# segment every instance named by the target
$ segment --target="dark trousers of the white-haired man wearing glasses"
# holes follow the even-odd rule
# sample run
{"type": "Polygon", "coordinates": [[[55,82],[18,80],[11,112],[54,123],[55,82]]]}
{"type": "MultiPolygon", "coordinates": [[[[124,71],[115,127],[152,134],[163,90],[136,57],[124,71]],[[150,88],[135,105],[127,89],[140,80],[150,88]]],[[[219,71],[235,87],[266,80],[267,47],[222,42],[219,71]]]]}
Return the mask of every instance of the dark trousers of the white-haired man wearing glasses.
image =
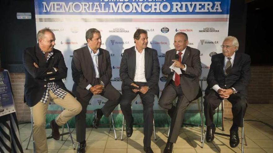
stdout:
{"type": "MultiPolygon", "coordinates": [[[[204,114],[206,117],[205,124],[207,126],[212,125],[215,109],[220,105],[222,100],[223,99],[219,94],[213,89],[206,92],[206,95],[204,96],[204,114]]],[[[244,114],[247,108],[247,98],[240,93],[235,93],[231,94],[227,100],[232,104],[233,125],[242,127],[244,114]]]]}

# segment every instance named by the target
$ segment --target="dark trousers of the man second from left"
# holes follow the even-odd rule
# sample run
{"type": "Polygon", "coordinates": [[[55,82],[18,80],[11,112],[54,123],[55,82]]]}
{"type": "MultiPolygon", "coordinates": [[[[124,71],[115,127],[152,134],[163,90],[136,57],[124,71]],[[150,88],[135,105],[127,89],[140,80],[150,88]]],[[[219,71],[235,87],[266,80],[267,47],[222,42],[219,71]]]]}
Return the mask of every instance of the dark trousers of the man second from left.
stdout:
{"type": "MultiPolygon", "coordinates": [[[[109,117],[111,112],[119,104],[121,94],[111,84],[108,84],[100,95],[108,99],[105,105],[101,108],[101,111],[105,117],[109,117]]],[[[75,116],[77,142],[83,142],[85,140],[86,111],[92,96],[93,94],[90,93],[85,97],[77,98],[77,100],[82,104],[83,107],[82,111],[75,116]]]]}

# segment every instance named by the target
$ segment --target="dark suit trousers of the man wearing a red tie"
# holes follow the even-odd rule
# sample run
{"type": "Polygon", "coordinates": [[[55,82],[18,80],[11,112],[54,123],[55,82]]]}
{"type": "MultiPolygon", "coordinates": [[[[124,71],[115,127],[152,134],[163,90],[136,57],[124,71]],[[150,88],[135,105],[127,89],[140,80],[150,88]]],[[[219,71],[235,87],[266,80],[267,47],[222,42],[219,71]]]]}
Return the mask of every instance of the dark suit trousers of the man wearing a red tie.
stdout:
{"type": "Polygon", "coordinates": [[[173,100],[178,97],[175,110],[172,114],[172,121],[170,127],[170,134],[168,137],[168,142],[176,143],[179,131],[183,124],[184,112],[190,101],[187,100],[183,94],[182,88],[179,85],[175,86],[174,81],[171,81],[170,84],[165,87],[162,91],[161,97],[159,99],[159,106],[165,110],[169,110],[173,106],[173,100]]]}

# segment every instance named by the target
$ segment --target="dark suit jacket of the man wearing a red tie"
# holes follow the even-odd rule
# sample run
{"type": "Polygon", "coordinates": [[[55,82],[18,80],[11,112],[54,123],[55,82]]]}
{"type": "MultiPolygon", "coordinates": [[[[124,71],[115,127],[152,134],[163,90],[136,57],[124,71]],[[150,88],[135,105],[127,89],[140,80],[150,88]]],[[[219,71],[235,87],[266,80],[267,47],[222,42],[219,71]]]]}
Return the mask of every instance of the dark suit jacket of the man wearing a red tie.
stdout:
{"type": "MultiPolygon", "coordinates": [[[[175,59],[175,55],[176,49],[171,49],[165,54],[165,62],[162,66],[162,73],[168,75],[165,87],[168,86],[174,74],[169,67],[173,64],[172,60],[175,59]]],[[[186,71],[181,69],[180,85],[186,98],[192,101],[202,96],[199,85],[199,77],[202,73],[200,51],[187,46],[181,63],[186,64],[187,68],[186,71]]]]}

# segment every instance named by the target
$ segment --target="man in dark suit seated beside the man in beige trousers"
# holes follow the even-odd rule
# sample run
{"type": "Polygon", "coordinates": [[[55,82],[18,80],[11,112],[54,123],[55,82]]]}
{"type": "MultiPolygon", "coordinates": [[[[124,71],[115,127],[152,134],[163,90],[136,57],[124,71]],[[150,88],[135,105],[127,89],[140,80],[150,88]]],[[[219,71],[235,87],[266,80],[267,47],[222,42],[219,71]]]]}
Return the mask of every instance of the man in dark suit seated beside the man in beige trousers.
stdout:
{"type": "Polygon", "coordinates": [[[110,54],[101,47],[101,33],[95,28],[87,30],[87,45],[74,50],[72,58],[72,92],[82,104],[83,110],[76,117],[76,134],[79,142],[77,152],[85,152],[85,125],[87,105],[93,95],[101,95],[108,99],[101,109],[94,110],[93,126],[97,128],[103,115],[109,117],[119,104],[121,94],[110,82],[112,67],[110,54]]]}

